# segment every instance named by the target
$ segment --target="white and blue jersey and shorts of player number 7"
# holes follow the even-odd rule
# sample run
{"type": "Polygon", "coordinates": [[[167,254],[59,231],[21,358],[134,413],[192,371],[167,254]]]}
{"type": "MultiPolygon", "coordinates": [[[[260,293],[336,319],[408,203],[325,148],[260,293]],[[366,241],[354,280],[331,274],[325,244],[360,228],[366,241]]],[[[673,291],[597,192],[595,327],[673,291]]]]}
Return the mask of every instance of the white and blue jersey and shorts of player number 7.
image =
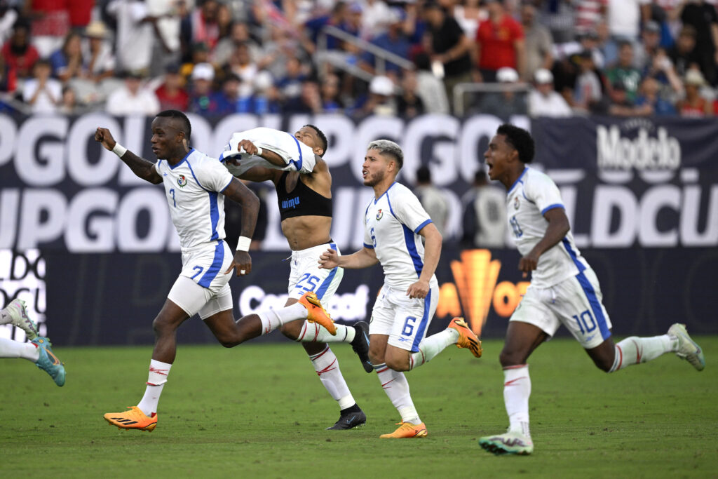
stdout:
{"type": "Polygon", "coordinates": [[[233,176],[217,159],[191,149],[174,166],[160,159],[172,223],[180,236],[182,272],[167,297],[187,315],[202,319],[232,308],[231,274],[224,274],[233,255],[225,243],[224,195],[233,176]],[[197,287],[199,286],[199,287],[197,287]]]}

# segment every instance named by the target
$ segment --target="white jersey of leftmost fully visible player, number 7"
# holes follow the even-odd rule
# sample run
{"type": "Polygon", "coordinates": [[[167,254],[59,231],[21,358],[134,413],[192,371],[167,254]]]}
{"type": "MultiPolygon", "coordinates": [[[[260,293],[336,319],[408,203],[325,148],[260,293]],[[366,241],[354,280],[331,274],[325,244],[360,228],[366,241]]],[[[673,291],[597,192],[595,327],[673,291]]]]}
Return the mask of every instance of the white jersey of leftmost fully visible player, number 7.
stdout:
{"type": "Polygon", "coordinates": [[[154,164],[162,175],[172,223],[180,246],[190,248],[224,239],[224,195],[233,177],[217,159],[191,149],[181,162],[154,164]]]}

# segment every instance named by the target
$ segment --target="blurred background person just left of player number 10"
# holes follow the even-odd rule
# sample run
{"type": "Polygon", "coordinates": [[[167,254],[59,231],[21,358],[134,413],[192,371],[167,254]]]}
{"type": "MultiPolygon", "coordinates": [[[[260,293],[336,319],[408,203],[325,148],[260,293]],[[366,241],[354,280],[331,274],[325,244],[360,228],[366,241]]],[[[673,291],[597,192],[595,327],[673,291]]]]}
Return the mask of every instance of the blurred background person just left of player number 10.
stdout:
{"type": "Polygon", "coordinates": [[[491,185],[484,169],[462,197],[461,243],[467,248],[501,248],[506,238],[506,192],[491,185]]]}

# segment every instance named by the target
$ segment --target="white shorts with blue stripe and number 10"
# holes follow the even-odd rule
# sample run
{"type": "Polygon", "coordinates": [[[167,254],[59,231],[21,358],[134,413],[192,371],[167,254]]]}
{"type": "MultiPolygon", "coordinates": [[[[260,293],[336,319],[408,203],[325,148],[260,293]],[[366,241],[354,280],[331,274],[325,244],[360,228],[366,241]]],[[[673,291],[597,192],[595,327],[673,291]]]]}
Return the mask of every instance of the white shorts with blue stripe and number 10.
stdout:
{"type": "Polygon", "coordinates": [[[510,321],[528,322],[549,336],[563,324],[584,348],[592,349],[611,336],[611,320],[602,300],[596,274],[584,269],[549,288],[529,286],[510,321]]]}

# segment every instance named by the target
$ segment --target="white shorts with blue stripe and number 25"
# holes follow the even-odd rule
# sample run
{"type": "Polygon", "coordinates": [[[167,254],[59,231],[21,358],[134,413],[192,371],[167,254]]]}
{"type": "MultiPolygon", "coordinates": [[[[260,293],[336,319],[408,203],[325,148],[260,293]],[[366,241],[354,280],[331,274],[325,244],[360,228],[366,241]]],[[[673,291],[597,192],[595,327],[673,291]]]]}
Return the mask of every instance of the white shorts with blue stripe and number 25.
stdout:
{"type": "Polygon", "coordinates": [[[317,293],[325,309],[329,309],[329,300],[337,291],[344,269],[321,269],[319,257],[333,249],[341,254],[335,243],[324,243],[301,251],[292,251],[292,271],[289,273],[289,297],[299,299],[308,291],[317,293]]]}

